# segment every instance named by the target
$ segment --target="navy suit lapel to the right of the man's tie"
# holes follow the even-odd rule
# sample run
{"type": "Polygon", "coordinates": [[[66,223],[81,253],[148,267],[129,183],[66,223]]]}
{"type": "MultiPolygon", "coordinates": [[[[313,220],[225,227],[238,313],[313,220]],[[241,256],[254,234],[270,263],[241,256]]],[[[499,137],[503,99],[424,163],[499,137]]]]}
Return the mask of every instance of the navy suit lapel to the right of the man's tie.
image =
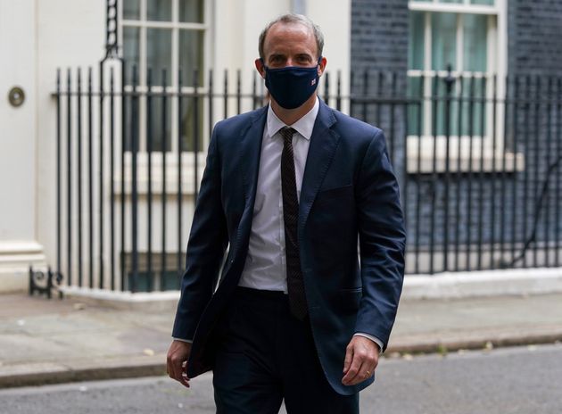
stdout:
{"type": "Polygon", "coordinates": [[[331,129],[335,124],[334,113],[320,100],[318,116],[310,137],[309,153],[302,177],[301,200],[299,205],[299,231],[302,231],[308,219],[312,203],[318,195],[322,181],[340,140],[339,135],[331,129]]]}

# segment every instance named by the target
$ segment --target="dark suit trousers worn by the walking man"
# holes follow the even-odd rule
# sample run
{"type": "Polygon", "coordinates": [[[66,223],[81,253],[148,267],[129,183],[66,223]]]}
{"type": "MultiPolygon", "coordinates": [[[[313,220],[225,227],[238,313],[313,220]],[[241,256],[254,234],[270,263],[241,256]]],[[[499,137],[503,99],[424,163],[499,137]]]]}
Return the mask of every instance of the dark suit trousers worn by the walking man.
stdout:
{"type": "Polygon", "coordinates": [[[359,394],[328,384],[310,322],[293,318],[285,294],[238,287],[219,325],[217,413],[277,413],[284,399],[288,414],[359,412],[359,394]]]}

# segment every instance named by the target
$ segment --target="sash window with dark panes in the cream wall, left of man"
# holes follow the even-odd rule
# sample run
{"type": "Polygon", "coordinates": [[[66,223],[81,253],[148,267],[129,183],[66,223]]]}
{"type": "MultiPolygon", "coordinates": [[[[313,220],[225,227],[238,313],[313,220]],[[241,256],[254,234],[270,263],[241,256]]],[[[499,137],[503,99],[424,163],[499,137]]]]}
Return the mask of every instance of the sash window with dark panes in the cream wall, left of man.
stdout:
{"type": "MultiPolygon", "coordinates": [[[[202,104],[194,111],[194,99],[184,98],[179,113],[181,91],[193,91],[196,82],[204,80],[204,50],[207,25],[204,0],[124,0],[121,10],[123,58],[126,62],[125,85],[133,85],[133,67],[136,67],[136,85],[141,93],[138,108],[139,152],[193,151],[194,140],[202,149],[202,134],[194,137],[194,113],[202,125],[202,104]],[[166,89],[169,95],[153,95],[147,99],[148,85],[155,93],[166,89]],[[179,124],[179,125],[178,125],[179,124]],[[150,131],[148,130],[150,128],[150,131]],[[178,131],[181,128],[181,139],[178,131]]],[[[131,112],[128,105],[128,125],[131,112]]],[[[130,130],[130,129],[129,129],[130,130]]],[[[130,142],[127,144],[130,150],[130,142]]]]}

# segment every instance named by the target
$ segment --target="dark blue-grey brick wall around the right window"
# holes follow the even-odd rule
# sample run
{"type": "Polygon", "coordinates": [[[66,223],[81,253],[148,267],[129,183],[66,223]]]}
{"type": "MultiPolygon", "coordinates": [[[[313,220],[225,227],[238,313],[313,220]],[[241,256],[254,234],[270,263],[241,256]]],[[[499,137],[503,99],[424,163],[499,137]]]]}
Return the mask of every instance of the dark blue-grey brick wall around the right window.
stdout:
{"type": "MultiPolygon", "coordinates": [[[[351,85],[352,94],[398,98],[405,95],[408,30],[407,0],[352,0],[351,72],[356,74],[351,85]],[[381,72],[382,78],[379,77],[381,72]],[[390,72],[397,76],[395,92],[388,89],[390,72]],[[381,84],[386,87],[379,87],[381,84]]],[[[517,94],[521,99],[549,95],[547,77],[562,76],[561,0],[508,0],[508,72],[510,77],[525,77],[520,79],[522,84],[517,94]],[[528,86],[527,76],[530,76],[528,86]],[[539,90],[537,85],[540,85],[539,90]]],[[[512,95],[513,85],[511,78],[512,95]]],[[[560,93],[554,84],[550,90],[551,94],[560,93]]],[[[354,105],[353,115],[383,128],[393,148],[393,165],[401,178],[402,190],[406,188],[407,193],[402,196],[402,201],[408,216],[410,251],[416,247],[416,240],[422,250],[432,242],[436,250],[441,250],[446,210],[450,244],[459,241],[462,251],[470,241],[471,250],[476,254],[478,245],[475,242],[479,241],[484,250],[493,250],[493,259],[485,259],[483,269],[501,267],[502,261],[513,260],[523,242],[533,235],[533,229],[539,245],[549,244],[552,248],[555,237],[562,236],[562,220],[557,214],[562,209],[562,163],[549,172],[562,150],[562,112],[554,102],[549,97],[541,102],[527,100],[510,104],[506,145],[513,150],[514,141],[517,141],[517,153],[525,155],[525,170],[501,174],[498,165],[498,170],[492,173],[452,174],[447,181],[450,186],[449,208],[445,207],[446,180],[441,174],[409,174],[404,186],[404,174],[401,173],[406,122],[403,107],[399,104],[392,112],[384,106],[381,110],[381,105],[377,104],[354,105]],[[548,189],[541,203],[541,188],[545,185],[548,189]],[[539,204],[542,204],[540,209],[539,204]],[[459,218],[456,217],[457,210],[459,218]],[[429,226],[432,221],[434,228],[429,226]],[[512,250],[509,242],[513,240],[518,244],[512,250]],[[506,251],[500,254],[504,248],[506,251]]],[[[559,243],[562,244],[562,240],[559,243]]],[[[536,245],[530,245],[533,258],[536,258],[536,245]]],[[[551,265],[552,257],[545,260],[540,253],[539,262],[551,265]]],[[[528,261],[525,266],[531,264],[532,261],[528,261]]],[[[521,265],[518,261],[515,266],[521,265]]],[[[462,263],[460,268],[464,268],[462,263]]],[[[435,269],[440,270],[440,263],[435,269]]]]}

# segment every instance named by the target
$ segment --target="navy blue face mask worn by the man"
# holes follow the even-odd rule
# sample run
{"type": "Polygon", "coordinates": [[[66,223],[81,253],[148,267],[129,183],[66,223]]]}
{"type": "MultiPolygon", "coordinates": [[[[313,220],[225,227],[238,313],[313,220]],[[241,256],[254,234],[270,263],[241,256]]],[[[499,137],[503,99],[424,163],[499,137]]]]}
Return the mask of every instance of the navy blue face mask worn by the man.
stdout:
{"type": "MultiPolygon", "coordinates": [[[[322,56],[318,58],[318,64],[321,59],[322,56]]],[[[285,109],[298,108],[304,104],[318,87],[318,64],[313,68],[287,66],[280,69],[269,69],[264,64],[266,87],[277,104],[285,109]]]]}

